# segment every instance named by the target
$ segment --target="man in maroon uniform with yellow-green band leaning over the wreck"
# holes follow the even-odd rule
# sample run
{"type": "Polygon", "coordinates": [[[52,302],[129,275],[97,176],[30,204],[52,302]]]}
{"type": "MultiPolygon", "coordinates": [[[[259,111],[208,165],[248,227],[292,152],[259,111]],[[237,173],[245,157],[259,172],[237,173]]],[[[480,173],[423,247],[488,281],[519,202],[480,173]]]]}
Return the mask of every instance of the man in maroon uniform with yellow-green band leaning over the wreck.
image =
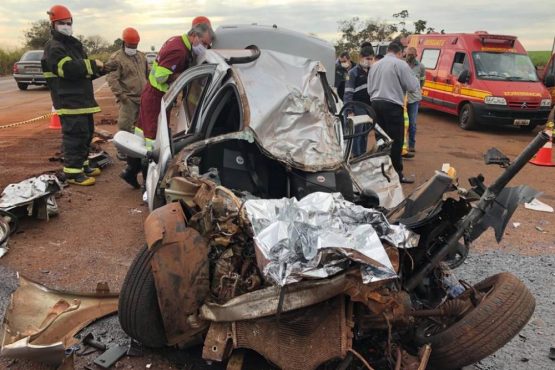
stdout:
{"type": "MultiPolygon", "coordinates": [[[[206,17],[197,17],[193,20],[192,28],[187,34],[171,37],[160,48],[141,94],[139,121],[135,131],[144,137],[148,150],[152,149],[156,137],[162,97],[168,91],[169,85],[191,66],[193,58],[204,55],[213,38],[214,31],[210,21],[206,17]]],[[[122,172],[121,178],[138,189],[140,186],[137,175],[141,168],[140,159],[128,158],[127,167],[122,172]]]]}

